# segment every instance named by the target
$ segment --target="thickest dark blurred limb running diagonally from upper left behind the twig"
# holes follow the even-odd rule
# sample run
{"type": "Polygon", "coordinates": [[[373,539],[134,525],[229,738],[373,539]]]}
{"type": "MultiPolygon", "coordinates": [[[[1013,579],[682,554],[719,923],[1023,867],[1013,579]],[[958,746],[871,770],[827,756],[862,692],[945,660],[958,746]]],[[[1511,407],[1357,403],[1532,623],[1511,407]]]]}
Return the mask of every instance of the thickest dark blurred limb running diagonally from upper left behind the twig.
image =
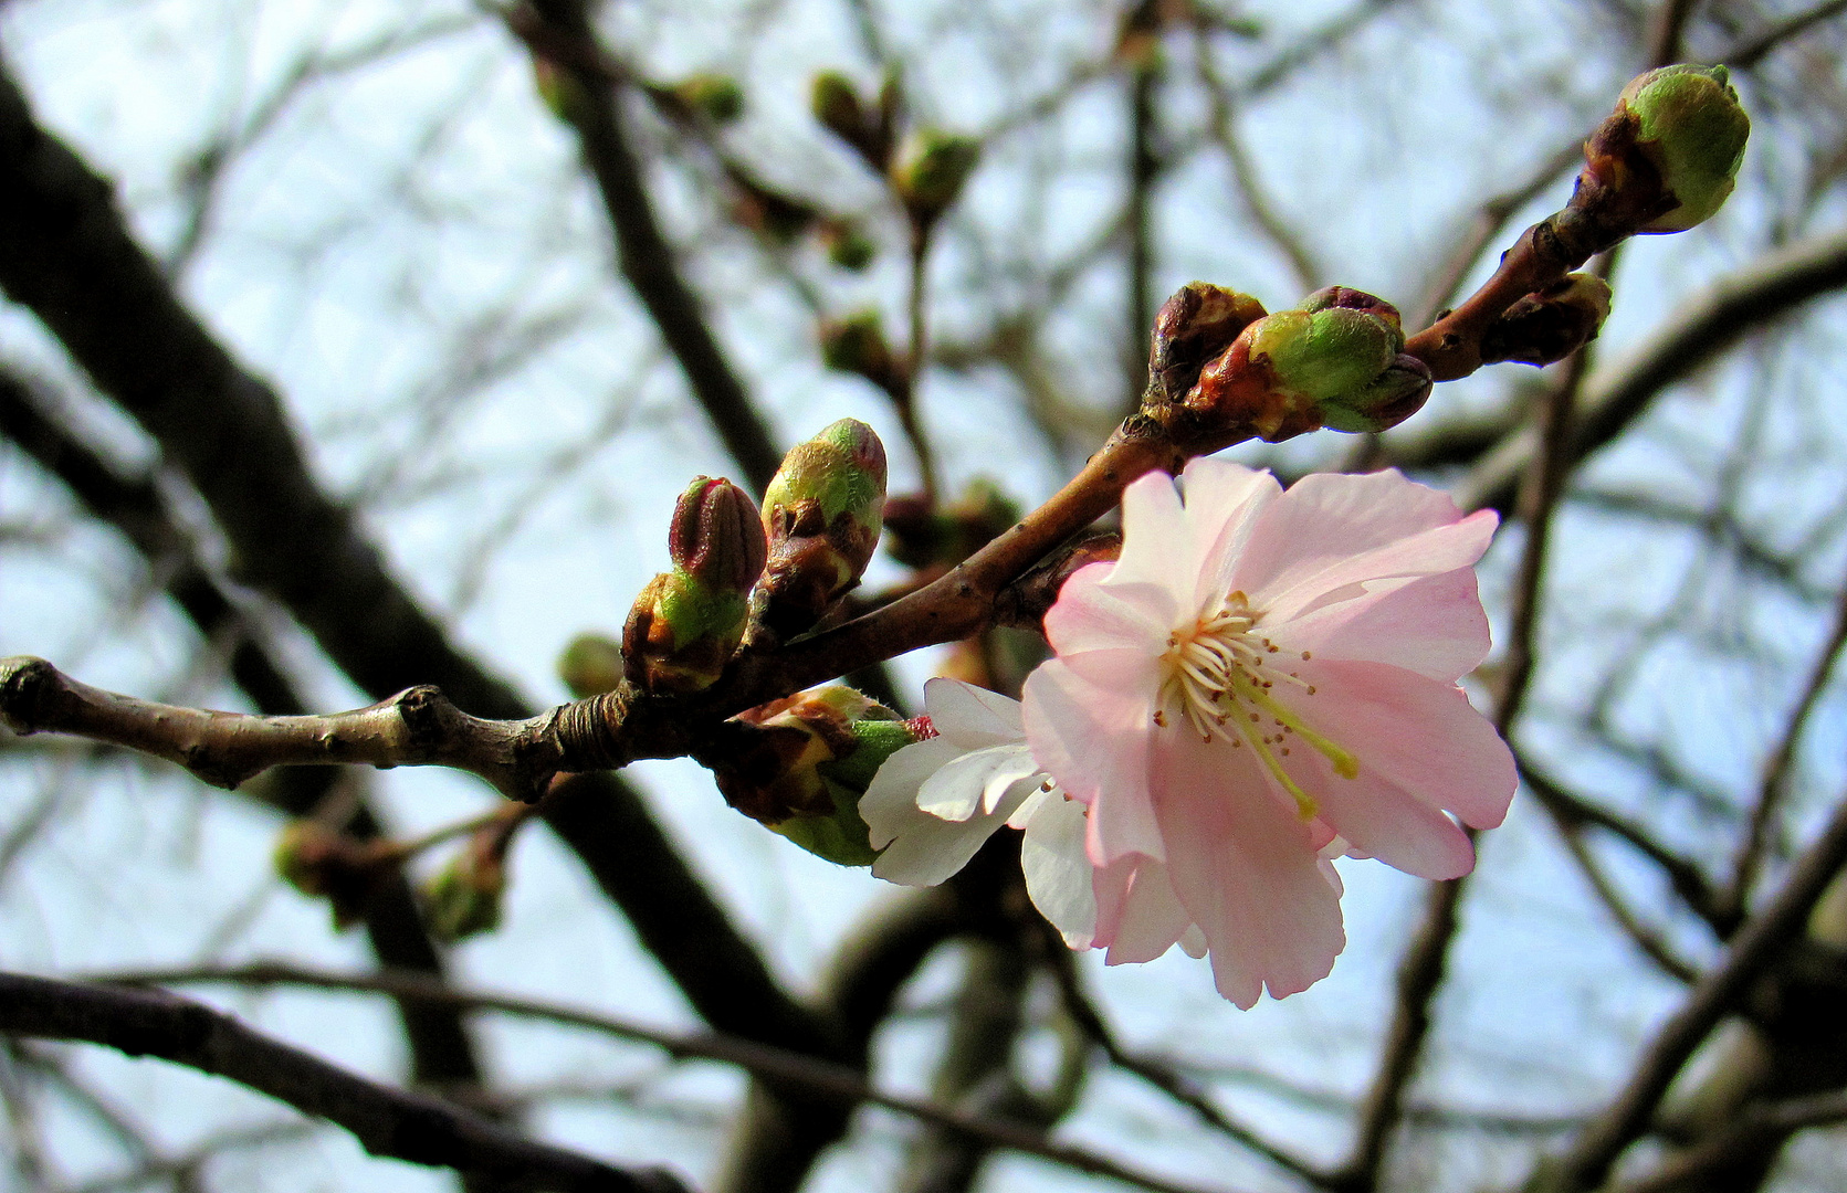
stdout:
{"type": "MultiPolygon", "coordinates": [[[[434,683],[477,717],[528,717],[526,702],[454,648],[351,512],[320,489],[273,390],[179,301],[111,192],[0,78],[0,286],[188,476],[236,550],[240,578],[283,602],[375,698],[434,683]]],[[[634,789],[613,776],[574,779],[545,818],[709,1023],[827,1047],[827,1027],[776,984],[634,789]]]]}

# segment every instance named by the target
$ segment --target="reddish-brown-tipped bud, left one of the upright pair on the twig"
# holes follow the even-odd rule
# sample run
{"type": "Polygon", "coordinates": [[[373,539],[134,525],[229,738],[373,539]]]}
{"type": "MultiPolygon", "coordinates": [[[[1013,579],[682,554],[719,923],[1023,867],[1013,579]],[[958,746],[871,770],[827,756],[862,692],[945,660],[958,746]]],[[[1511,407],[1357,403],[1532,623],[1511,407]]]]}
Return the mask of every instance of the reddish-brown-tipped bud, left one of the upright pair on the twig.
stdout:
{"type": "Polygon", "coordinates": [[[700,476],[674,506],[669,552],[674,571],[641,589],[622,626],[622,670],[645,691],[685,694],[737,654],[768,545],[750,497],[700,476]]]}

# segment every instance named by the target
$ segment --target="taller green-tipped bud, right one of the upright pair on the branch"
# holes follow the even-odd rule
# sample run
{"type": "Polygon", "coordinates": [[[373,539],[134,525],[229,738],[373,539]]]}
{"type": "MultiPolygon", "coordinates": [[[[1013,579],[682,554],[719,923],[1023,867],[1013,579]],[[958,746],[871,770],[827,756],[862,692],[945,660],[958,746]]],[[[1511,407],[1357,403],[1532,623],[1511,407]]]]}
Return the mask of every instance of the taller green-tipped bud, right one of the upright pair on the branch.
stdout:
{"type": "Polygon", "coordinates": [[[859,584],[879,545],[885,445],[840,419],[787,456],[763,495],[770,565],[752,619],[778,637],[802,633],[859,584]]]}

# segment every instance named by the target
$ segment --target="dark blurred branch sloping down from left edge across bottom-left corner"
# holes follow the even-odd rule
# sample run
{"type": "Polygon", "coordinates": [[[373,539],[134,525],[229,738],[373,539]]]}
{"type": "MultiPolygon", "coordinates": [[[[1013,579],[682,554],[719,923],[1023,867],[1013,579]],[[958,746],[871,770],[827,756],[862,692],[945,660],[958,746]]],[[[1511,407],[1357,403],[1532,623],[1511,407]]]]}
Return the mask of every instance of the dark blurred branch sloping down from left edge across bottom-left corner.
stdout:
{"type": "Polygon", "coordinates": [[[83,1040],[129,1056],[161,1056],[344,1127],[375,1156],[489,1176],[506,1187],[685,1193],[685,1186],[661,1169],[621,1169],[523,1139],[491,1119],[358,1077],[164,992],[0,973],[0,1030],[83,1040]]]}

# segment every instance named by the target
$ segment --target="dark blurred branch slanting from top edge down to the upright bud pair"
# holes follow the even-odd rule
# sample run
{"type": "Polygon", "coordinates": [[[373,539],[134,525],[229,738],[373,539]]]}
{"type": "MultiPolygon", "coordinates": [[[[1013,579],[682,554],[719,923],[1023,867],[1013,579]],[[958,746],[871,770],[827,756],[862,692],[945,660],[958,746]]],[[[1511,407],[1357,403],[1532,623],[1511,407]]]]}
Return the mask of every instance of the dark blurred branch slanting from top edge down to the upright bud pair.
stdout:
{"type": "Polygon", "coordinates": [[[597,179],[615,235],[622,277],[646,307],[694,399],[744,471],[744,480],[763,493],[783,456],[718,347],[654,214],[654,201],[641,181],[641,163],[622,127],[619,102],[624,79],[597,42],[587,6],[582,0],[534,0],[513,7],[506,24],[534,55],[565,68],[589,100],[582,109],[573,109],[573,120],[584,163],[597,179]]]}

